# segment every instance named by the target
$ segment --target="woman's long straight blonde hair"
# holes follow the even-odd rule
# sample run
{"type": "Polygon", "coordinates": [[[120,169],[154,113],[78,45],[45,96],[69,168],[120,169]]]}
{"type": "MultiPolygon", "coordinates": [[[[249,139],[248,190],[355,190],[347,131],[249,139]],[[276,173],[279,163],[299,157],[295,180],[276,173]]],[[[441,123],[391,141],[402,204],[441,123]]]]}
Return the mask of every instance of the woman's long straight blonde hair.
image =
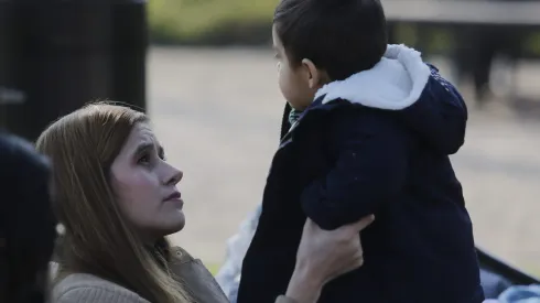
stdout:
{"type": "Polygon", "coordinates": [[[150,302],[190,302],[166,267],[166,240],[144,246],[110,186],[112,162],[133,127],[144,122],[142,112],[98,102],[61,118],[37,139],[37,150],[53,162],[54,208],[65,227],[60,273],[91,273],[150,302]]]}

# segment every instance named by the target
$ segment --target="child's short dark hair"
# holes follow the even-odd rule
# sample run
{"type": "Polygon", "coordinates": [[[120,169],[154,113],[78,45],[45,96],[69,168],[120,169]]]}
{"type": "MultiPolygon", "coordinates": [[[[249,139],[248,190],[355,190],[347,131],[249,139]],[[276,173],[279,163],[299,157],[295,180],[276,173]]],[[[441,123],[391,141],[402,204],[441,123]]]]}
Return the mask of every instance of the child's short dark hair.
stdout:
{"type": "Polygon", "coordinates": [[[332,80],[374,67],[388,44],[379,0],[281,0],[273,24],[292,66],[309,58],[332,80]]]}

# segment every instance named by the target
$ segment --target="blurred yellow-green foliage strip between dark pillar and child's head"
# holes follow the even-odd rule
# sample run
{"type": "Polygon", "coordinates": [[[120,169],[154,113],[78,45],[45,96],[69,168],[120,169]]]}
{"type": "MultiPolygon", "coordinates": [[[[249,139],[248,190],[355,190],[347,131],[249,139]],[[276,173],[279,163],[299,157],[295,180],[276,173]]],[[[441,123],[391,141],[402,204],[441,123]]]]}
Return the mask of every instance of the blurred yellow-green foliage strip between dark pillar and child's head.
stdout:
{"type": "Polygon", "coordinates": [[[277,3],[278,0],[150,0],[150,35],[153,41],[169,43],[219,43],[220,36],[267,41],[277,3]]]}

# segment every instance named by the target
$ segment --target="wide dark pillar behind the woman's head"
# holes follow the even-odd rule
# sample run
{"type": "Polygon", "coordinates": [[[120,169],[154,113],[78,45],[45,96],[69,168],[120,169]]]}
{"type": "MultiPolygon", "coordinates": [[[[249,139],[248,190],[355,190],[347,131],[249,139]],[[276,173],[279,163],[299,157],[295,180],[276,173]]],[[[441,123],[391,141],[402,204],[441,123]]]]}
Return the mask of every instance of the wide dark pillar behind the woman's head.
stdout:
{"type": "Polygon", "coordinates": [[[35,140],[55,119],[95,99],[145,108],[144,3],[9,1],[0,7],[11,17],[4,22],[10,45],[0,44],[9,61],[0,64],[0,87],[22,99],[0,99],[0,126],[35,140]]]}

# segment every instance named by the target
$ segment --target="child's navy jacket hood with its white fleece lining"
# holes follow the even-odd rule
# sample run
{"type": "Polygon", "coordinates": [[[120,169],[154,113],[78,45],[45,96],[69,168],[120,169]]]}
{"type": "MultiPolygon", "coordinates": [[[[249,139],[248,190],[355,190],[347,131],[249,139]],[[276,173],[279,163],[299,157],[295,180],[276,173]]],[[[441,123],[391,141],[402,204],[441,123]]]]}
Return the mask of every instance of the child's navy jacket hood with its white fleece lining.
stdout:
{"type": "Polygon", "coordinates": [[[336,99],[399,111],[407,127],[442,153],[455,153],[463,145],[467,109],[461,95],[419,52],[404,45],[388,45],[371,69],[332,82],[315,95],[320,106],[336,99]]]}

